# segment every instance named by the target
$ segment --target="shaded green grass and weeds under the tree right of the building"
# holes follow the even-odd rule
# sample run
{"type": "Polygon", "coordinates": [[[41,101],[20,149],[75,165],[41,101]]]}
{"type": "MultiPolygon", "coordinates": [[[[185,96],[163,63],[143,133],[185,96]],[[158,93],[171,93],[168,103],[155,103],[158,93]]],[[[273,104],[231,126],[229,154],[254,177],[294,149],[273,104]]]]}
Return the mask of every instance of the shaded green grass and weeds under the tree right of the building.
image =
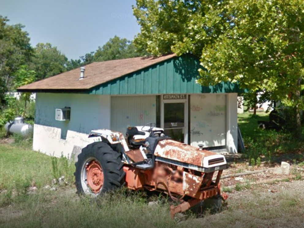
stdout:
{"type": "Polygon", "coordinates": [[[281,161],[303,161],[303,142],[295,139],[290,131],[260,129],[258,120],[269,121],[269,115],[264,112],[257,113],[256,116],[248,112],[238,115],[238,125],[246,148],[243,158],[250,165],[260,165],[261,162],[271,165],[281,161]]]}

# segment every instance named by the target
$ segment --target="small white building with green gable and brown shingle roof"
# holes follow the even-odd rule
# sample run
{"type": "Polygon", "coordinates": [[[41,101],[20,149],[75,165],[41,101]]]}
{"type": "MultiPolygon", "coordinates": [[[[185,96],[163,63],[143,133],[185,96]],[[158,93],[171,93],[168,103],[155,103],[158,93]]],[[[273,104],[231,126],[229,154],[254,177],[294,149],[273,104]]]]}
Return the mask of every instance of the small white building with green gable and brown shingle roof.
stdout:
{"type": "Polygon", "coordinates": [[[196,83],[191,54],[91,63],[18,88],[36,93],[33,149],[65,156],[83,134],[153,122],[175,140],[237,153],[237,84],[196,83]]]}

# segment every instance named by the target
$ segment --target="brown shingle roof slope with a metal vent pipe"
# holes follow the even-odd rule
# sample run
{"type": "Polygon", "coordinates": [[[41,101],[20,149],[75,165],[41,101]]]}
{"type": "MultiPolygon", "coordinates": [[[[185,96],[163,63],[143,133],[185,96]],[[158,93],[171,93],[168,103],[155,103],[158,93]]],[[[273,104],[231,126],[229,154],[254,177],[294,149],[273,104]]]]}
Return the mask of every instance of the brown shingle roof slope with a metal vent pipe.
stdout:
{"type": "Polygon", "coordinates": [[[18,91],[34,90],[78,90],[90,89],[97,85],[119,78],[126,74],[151,66],[155,63],[170,59],[176,54],[164,55],[158,58],[131,58],[91,63],[85,66],[85,78],[79,80],[80,68],[21,86],[18,91]]]}

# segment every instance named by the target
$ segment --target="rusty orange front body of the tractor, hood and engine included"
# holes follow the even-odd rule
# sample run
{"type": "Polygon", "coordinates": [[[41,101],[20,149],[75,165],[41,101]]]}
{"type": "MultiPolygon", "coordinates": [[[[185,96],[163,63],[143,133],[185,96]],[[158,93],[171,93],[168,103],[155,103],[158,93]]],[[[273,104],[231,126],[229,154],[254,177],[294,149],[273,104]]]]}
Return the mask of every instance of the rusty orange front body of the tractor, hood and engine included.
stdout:
{"type": "Polygon", "coordinates": [[[223,155],[163,139],[155,147],[154,160],[153,169],[124,167],[129,188],[163,190],[179,200],[189,196],[201,201],[220,194],[219,179],[226,169],[223,155]]]}

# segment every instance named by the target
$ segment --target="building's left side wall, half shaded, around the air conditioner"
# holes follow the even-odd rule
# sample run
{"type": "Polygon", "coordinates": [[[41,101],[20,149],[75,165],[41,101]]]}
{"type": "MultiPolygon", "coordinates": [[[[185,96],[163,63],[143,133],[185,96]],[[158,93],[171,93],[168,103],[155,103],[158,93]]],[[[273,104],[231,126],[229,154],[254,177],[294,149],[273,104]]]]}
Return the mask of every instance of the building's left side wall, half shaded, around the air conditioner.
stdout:
{"type": "Polygon", "coordinates": [[[110,128],[110,96],[37,93],[33,149],[68,156],[87,144],[92,129],[110,128]],[[70,121],[56,121],[56,108],[71,108],[70,121]]]}

